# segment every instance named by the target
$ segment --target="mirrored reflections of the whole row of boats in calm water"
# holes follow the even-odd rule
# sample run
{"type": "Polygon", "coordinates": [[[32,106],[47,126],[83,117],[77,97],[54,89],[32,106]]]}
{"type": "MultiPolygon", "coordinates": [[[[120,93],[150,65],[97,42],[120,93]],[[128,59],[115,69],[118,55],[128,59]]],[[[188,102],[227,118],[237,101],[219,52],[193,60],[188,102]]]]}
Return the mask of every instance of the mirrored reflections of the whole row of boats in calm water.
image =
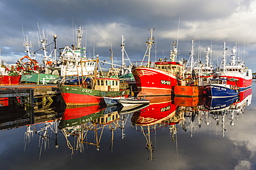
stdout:
{"type": "MultiPolygon", "coordinates": [[[[11,129],[26,125],[24,150],[26,151],[32,138],[39,138],[40,159],[42,151],[49,148],[50,141],[58,148],[63,138],[71,155],[75,151],[84,153],[88,147],[101,151],[102,144],[109,145],[110,151],[113,152],[115,134],[118,133],[118,136],[124,139],[125,131],[131,125],[134,133],[144,136],[144,141],[140,142],[143,142],[143,145],[145,143],[145,149],[149,153],[147,158],[154,160],[156,147],[152,139],[156,138],[156,131],[160,129],[167,129],[170,141],[177,142],[179,131],[190,133],[193,138],[196,128],[214,125],[221,137],[225,138],[226,127],[235,126],[235,120],[238,120],[246,106],[250,105],[252,90],[248,89],[238,97],[226,99],[174,96],[146,99],[150,100],[149,105],[66,107],[64,112],[58,114],[48,109],[45,114],[35,114],[37,123],[31,125],[26,116],[17,114],[14,120],[8,118],[6,123],[1,122],[0,128],[11,129]],[[38,128],[39,124],[44,126],[38,128]],[[104,134],[109,134],[109,131],[110,136],[104,138],[104,134]]],[[[119,142],[117,145],[122,145],[122,141],[119,142]]]]}

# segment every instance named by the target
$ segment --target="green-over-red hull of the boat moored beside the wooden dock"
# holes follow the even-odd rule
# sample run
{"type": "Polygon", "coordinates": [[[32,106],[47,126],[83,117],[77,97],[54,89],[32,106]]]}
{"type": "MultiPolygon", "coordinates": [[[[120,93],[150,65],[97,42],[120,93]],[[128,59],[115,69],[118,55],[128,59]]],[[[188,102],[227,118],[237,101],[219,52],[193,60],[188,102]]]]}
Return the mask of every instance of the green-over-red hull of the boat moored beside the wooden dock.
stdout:
{"type": "Polygon", "coordinates": [[[104,96],[118,97],[129,95],[129,90],[111,92],[88,89],[75,85],[59,85],[58,87],[66,105],[98,105],[104,103],[104,96]]]}

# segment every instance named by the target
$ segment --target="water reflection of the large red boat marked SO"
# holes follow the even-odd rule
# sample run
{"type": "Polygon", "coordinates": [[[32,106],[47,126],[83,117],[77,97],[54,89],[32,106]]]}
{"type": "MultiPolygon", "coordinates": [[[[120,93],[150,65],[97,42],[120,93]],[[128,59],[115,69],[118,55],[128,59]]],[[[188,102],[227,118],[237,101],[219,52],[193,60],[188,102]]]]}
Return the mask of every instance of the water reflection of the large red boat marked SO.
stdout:
{"type": "MultiPolygon", "coordinates": [[[[145,148],[149,151],[149,160],[154,160],[154,146],[152,144],[151,132],[161,128],[170,127],[179,123],[183,115],[176,113],[177,106],[171,96],[154,97],[150,100],[150,105],[140,111],[134,112],[131,117],[133,129],[140,131],[145,136],[145,148]]],[[[172,129],[176,134],[176,129],[172,129]]]]}

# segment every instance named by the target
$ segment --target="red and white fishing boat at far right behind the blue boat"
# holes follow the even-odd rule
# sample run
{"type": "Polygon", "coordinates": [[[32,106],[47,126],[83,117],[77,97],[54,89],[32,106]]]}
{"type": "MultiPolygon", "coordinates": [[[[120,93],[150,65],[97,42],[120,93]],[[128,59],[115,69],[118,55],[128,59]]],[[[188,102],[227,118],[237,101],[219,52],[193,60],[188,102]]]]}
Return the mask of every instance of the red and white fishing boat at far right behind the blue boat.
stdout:
{"type": "Polygon", "coordinates": [[[240,88],[241,91],[248,89],[252,85],[253,74],[252,70],[246,67],[244,61],[237,58],[235,47],[232,48],[230,56],[230,64],[226,64],[226,42],[223,43],[223,61],[219,69],[219,77],[226,78],[228,85],[235,85],[240,88]],[[235,81],[232,81],[235,80],[235,81]]]}

